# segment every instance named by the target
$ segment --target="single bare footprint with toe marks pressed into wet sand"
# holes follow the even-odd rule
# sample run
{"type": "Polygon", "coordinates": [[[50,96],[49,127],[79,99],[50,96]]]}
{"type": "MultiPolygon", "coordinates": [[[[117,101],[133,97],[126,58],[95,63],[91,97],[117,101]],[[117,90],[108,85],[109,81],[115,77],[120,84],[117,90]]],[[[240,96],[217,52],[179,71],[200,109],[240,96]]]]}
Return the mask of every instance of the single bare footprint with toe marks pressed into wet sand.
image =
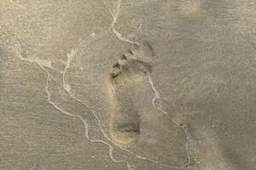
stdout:
{"type": "Polygon", "coordinates": [[[131,91],[137,82],[145,80],[150,72],[149,62],[154,56],[148,42],[134,46],[113,65],[109,76],[112,111],[109,131],[119,144],[131,144],[140,135],[140,116],[132,102],[131,91]]]}

